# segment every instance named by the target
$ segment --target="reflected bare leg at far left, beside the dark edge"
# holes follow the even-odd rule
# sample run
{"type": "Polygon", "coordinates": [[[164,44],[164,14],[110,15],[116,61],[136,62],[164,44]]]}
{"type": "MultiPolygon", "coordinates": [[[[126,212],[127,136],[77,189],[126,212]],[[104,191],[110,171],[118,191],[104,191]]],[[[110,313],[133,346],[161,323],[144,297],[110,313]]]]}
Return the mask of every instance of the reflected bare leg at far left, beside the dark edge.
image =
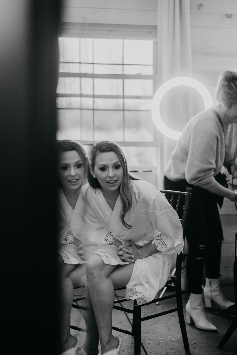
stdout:
{"type": "Polygon", "coordinates": [[[58,353],[74,348],[76,338],[70,334],[70,314],[73,301],[73,285],[70,279],[70,272],[78,270],[79,278],[85,275],[85,264],[65,264],[59,256],[59,331],[58,331],[58,353]]]}

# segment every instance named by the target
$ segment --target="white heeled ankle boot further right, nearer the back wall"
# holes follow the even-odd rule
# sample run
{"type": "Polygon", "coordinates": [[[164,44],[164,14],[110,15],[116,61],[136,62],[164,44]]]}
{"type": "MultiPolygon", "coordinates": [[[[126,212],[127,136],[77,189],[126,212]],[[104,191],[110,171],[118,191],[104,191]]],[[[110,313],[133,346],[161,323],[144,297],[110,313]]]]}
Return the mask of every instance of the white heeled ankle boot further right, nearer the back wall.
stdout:
{"type": "Polygon", "coordinates": [[[206,307],[214,306],[214,302],[225,310],[234,305],[233,302],[226,300],[223,296],[219,279],[209,279],[207,277],[206,285],[204,287],[204,300],[206,307]]]}

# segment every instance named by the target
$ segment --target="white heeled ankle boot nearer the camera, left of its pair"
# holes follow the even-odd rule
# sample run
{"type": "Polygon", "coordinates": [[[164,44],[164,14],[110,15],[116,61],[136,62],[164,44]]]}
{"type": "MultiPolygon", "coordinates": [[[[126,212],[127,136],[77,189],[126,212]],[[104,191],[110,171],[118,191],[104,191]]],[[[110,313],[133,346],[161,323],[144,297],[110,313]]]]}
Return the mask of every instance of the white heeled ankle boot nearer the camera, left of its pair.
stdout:
{"type": "Polygon", "coordinates": [[[186,309],[186,322],[188,324],[195,324],[196,328],[204,329],[206,331],[216,331],[216,327],[211,324],[206,318],[203,305],[203,294],[196,295],[190,293],[186,309]]]}

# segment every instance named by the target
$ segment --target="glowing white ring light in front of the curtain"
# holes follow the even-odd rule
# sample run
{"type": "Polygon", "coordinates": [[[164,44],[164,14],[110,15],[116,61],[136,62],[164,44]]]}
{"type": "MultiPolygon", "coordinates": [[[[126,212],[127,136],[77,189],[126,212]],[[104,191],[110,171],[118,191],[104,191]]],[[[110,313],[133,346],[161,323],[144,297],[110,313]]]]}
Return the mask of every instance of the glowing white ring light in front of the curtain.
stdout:
{"type": "Polygon", "coordinates": [[[181,136],[182,132],[177,132],[173,131],[169,127],[167,127],[164,122],[162,121],[161,114],[160,114],[160,104],[163,96],[169,91],[170,89],[176,87],[176,86],[189,86],[193,89],[195,89],[201,97],[203,98],[204,101],[204,106],[205,110],[211,108],[213,106],[213,101],[211,98],[211,94],[208,91],[208,89],[200,83],[200,81],[193,79],[193,78],[188,78],[185,76],[177,77],[170,79],[163,83],[158,90],[156,91],[153,100],[152,100],[152,106],[151,106],[151,115],[152,119],[158,128],[158,130],[166,137],[171,138],[173,140],[178,140],[179,137],[181,136]]]}

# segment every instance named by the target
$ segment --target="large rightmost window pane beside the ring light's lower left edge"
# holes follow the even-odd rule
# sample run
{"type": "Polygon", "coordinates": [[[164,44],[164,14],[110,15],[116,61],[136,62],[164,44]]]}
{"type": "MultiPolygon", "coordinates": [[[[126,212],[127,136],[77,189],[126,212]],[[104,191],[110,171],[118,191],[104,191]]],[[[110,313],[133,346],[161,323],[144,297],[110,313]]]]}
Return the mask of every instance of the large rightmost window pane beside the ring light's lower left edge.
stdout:
{"type": "Polygon", "coordinates": [[[153,141],[153,123],[150,112],[125,111],[124,114],[124,141],[153,141]]]}

